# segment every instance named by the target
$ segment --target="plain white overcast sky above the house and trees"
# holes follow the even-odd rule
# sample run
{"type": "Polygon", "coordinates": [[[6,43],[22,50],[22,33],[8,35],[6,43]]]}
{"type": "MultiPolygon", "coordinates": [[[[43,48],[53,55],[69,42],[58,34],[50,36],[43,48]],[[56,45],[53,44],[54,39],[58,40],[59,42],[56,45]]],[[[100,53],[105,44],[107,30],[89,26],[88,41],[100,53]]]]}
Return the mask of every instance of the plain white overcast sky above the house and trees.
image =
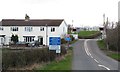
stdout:
{"type": "Polygon", "coordinates": [[[110,22],[118,21],[120,0],[0,0],[0,20],[64,19],[74,27],[101,26],[103,14],[110,22]]]}

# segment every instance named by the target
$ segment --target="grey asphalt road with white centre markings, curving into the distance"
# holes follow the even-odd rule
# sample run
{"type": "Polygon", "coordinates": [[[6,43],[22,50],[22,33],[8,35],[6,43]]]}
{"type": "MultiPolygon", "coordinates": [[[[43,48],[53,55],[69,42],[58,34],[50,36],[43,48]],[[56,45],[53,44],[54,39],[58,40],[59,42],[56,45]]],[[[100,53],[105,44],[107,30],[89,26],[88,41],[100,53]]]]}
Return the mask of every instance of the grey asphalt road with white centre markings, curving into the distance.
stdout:
{"type": "Polygon", "coordinates": [[[72,70],[118,70],[118,61],[106,56],[96,39],[82,39],[72,46],[72,70]]]}

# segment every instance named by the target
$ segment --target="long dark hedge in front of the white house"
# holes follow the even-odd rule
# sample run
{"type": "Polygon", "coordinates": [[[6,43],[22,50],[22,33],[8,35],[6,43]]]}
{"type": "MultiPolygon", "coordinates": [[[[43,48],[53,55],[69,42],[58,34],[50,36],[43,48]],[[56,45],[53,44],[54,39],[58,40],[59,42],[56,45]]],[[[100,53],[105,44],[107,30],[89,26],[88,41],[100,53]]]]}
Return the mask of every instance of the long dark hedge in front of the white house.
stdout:
{"type": "MultiPolygon", "coordinates": [[[[61,54],[66,54],[66,49],[61,47],[61,54]]],[[[2,68],[24,67],[34,63],[49,62],[56,58],[55,51],[49,51],[48,48],[28,49],[28,50],[3,50],[2,68]]]]}

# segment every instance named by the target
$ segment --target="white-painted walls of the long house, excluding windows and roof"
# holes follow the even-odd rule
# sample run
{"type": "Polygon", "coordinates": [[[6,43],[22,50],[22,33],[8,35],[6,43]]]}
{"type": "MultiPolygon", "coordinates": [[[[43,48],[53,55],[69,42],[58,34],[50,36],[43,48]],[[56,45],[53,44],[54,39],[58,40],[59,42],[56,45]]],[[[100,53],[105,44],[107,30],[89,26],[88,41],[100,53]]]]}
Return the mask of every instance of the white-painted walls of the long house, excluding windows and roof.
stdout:
{"type": "MultiPolygon", "coordinates": [[[[13,27],[13,26],[12,26],[13,27]]],[[[11,26],[3,26],[4,30],[0,32],[0,35],[5,36],[5,44],[9,44],[10,37],[12,34],[17,34],[19,37],[19,41],[24,41],[23,36],[35,36],[35,40],[37,40],[38,36],[43,37],[43,44],[46,45],[46,26],[32,26],[33,30],[31,32],[25,31],[25,26],[17,26],[18,31],[11,31],[11,26]],[[40,27],[44,27],[44,31],[40,31],[40,27]]],[[[61,37],[62,35],[67,34],[67,25],[63,21],[60,26],[48,26],[47,27],[47,45],[49,45],[49,37],[61,37]],[[51,28],[55,28],[55,32],[51,32],[51,28]],[[64,30],[63,30],[64,28],[64,30]]]]}

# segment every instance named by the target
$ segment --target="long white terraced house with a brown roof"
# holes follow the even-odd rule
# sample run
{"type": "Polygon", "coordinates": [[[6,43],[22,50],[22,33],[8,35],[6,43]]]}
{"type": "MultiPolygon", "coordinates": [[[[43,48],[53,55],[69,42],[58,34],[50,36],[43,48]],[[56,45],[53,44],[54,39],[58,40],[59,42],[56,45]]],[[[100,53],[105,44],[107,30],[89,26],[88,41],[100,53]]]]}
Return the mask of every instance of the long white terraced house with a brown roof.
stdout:
{"type": "Polygon", "coordinates": [[[0,45],[9,45],[12,34],[18,35],[19,42],[39,41],[49,45],[49,37],[64,37],[67,24],[63,19],[3,19],[0,25],[0,45]]]}

